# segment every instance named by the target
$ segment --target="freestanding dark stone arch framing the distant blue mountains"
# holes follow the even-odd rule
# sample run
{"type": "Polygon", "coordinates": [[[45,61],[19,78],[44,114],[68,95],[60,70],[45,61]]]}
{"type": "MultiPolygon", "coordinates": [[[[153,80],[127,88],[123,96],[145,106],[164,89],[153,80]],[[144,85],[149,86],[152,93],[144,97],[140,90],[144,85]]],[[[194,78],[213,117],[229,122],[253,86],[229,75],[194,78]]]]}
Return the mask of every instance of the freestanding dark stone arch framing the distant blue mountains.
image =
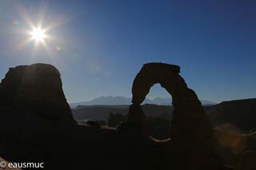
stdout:
{"type": "Polygon", "coordinates": [[[139,105],[144,101],[150,88],[159,83],[172,96],[174,117],[170,129],[170,136],[180,136],[181,133],[200,131],[200,135],[209,136],[212,132],[210,121],[202,109],[196,93],[189,89],[184,79],[179,75],[178,65],[165,63],[148,63],[143,65],[134,79],[132,102],[139,105]],[[184,125],[184,122],[186,125],[184,125]],[[183,124],[181,127],[180,124],[183,124]],[[203,129],[200,129],[203,127],[203,129]],[[198,128],[198,129],[195,129],[198,128]],[[204,132],[203,132],[204,131],[204,132]],[[177,134],[178,133],[178,134],[177,134]]]}

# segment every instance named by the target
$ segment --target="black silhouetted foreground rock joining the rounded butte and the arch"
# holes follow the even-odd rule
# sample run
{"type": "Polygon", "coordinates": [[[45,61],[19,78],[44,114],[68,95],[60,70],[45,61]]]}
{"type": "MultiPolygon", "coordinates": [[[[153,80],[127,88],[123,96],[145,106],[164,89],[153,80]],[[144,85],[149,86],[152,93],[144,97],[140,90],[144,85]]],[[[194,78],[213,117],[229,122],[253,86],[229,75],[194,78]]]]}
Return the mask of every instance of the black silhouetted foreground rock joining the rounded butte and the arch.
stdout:
{"type": "Polygon", "coordinates": [[[44,162],[46,169],[229,169],[201,102],[177,65],[150,63],[134,79],[133,105],[119,128],[78,125],[58,69],[35,64],[11,68],[0,84],[0,156],[10,162],[44,162]],[[140,104],[160,83],[173,97],[169,140],[145,131],[140,104]]]}

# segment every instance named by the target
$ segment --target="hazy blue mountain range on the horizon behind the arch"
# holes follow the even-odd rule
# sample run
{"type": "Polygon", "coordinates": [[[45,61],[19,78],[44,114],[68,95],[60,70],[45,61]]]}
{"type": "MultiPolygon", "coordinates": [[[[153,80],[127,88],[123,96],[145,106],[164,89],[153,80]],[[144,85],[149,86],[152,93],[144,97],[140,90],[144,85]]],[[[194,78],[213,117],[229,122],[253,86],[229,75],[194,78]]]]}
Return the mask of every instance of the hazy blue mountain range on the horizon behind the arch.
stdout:
{"type": "MultiPolygon", "coordinates": [[[[216,105],[212,101],[201,101],[202,105],[216,105]]],[[[131,97],[97,97],[91,101],[82,101],[78,103],[70,103],[71,108],[75,108],[78,105],[130,105],[131,97]]],[[[146,98],[142,104],[154,104],[154,105],[171,105],[170,98],[155,97],[153,99],[146,98]]]]}

